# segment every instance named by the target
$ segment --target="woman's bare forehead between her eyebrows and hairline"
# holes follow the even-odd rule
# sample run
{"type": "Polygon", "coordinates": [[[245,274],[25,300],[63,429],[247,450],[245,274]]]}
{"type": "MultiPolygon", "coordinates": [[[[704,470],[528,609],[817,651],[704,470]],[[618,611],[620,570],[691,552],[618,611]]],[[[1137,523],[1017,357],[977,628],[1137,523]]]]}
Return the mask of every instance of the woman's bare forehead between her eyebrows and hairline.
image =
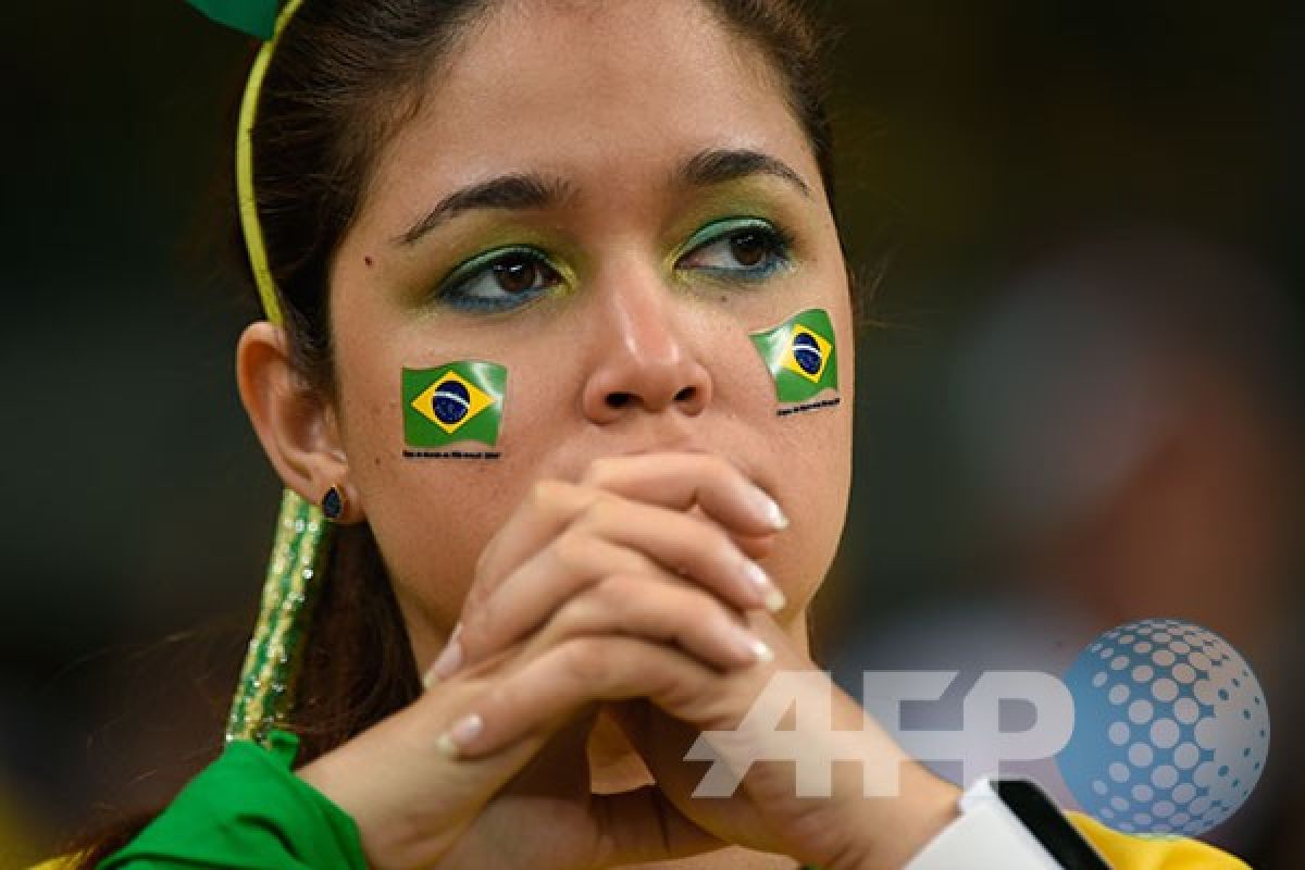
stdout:
{"type": "Polygon", "coordinates": [[[615,192],[720,146],[775,154],[818,187],[761,50],[701,0],[508,0],[432,74],[373,190],[428,207],[441,188],[547,170],[615,192]]]}

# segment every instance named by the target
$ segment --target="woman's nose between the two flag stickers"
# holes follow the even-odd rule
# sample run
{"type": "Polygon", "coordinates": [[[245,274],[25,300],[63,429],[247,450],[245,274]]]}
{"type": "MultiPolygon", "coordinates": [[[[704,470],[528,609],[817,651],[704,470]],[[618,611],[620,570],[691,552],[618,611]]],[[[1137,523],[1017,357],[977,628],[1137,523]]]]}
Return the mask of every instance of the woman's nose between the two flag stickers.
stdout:
{"type": "Polygon", "coordinates": [[[711,400],[711,376],[676,322],[677,303],[659,280],[626,279],[592,297],[586,331],[592,364],[581,402],[598,424],[638,412],[697,416],[711,400]]]}

